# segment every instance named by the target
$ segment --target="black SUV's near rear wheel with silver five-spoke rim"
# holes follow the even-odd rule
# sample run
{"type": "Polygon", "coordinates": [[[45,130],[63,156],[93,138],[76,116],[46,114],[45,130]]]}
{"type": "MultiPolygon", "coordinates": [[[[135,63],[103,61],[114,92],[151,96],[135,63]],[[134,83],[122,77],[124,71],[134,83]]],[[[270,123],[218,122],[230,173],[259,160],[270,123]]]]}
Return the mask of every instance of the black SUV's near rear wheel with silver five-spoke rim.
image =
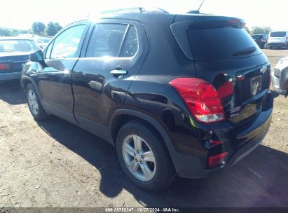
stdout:
{"type": "Polygon", "coordinates": [[[124,173],[133,184],[145,191],[161,191],[170,186],[176,176],[163,141],[142,123],[130,121],[123,125],[118,131],[116,150],[124,173]],[[141,140],[142,150],[137,153],[135,141],[139,144],[141,140]],[[129,168],[128,165],[134,166],[129,168]],[[147,172],[147,167],[149,172],[147,172]]]}

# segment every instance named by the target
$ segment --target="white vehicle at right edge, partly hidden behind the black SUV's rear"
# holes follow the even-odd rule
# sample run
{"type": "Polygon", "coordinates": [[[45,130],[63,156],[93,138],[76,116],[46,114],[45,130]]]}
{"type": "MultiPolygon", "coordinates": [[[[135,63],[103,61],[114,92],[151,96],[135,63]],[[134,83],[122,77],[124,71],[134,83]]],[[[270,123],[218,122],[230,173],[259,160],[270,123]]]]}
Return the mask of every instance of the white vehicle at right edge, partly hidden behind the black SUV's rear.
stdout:
{"type": "Polygon", "coordinates": [[[272,74],[273,90],[275,92],[288,95],[288,57],[280,59],[276,64],[272,74]]]}

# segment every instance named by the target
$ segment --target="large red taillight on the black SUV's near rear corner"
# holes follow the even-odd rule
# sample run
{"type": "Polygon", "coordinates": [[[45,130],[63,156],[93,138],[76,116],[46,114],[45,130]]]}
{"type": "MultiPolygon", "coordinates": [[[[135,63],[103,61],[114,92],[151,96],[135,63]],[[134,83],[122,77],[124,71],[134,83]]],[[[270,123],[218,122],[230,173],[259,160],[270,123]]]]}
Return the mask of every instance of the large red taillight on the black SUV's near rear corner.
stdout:
{"type": "Polygon", "coordinates": [[[192,116],[202,123],[224,121],[221,99],[215,88],[199,78],[175,78],[170,81],[184,99],[192,116]]]}

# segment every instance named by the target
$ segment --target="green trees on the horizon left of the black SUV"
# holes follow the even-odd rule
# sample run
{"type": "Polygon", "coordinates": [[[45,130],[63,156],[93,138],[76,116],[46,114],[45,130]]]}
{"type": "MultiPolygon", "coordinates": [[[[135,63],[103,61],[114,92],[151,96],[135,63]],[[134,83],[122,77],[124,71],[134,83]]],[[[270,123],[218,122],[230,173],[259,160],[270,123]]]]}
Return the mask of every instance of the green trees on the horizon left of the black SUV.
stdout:
{"type": "Polygon", "coordinates": [[[33,22],[31,29],[11,29],[0,27],[0,36],[18,36],[20,34],[35,34],[38,36],[54,36],[62,29],[58,22],[33,22]]]}

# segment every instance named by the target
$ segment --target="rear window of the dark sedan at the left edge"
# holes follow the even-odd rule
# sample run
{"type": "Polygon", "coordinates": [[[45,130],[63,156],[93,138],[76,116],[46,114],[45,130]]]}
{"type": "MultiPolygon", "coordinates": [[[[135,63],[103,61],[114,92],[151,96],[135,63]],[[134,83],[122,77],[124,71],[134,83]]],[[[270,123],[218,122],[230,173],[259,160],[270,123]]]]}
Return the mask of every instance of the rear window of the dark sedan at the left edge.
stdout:
{"type": "Polygon", "coordinates": [[[1,52],[31,52],[38,50],[34,41],[29,40],[0,40],[1,52]]]}

